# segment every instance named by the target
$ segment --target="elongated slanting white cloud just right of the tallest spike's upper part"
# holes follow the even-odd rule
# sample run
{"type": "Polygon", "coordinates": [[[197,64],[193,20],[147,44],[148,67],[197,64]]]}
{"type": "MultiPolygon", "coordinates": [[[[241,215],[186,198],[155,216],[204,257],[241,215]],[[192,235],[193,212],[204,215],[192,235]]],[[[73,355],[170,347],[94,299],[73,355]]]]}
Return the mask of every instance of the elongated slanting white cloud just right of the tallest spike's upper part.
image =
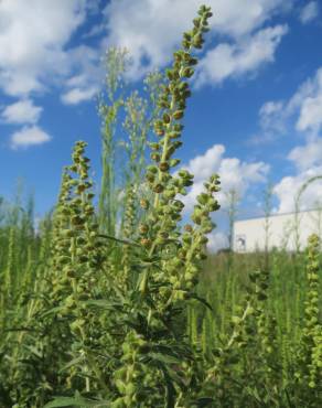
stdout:
{"type": "Polygon", "coordinates": [[[287,32],[286,25],[277,25],[260,30],[239,43],[217,45],[201,61],[196,84],[219,84],[228,77],[254,73],[264,64],[273,62],[276,49],[287,32]]]}

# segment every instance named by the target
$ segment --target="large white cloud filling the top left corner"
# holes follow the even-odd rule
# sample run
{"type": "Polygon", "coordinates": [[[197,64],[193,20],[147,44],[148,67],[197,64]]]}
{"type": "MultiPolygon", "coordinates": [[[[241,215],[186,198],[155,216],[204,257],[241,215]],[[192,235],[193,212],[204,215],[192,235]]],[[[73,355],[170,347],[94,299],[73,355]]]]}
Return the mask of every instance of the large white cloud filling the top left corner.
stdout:
{"type": "Polygon", "coordinates": [[[67,75],[65,47],[85,13],[85,0],[2,0],[0,88],[12,96],[28,95],[67,75]]]}

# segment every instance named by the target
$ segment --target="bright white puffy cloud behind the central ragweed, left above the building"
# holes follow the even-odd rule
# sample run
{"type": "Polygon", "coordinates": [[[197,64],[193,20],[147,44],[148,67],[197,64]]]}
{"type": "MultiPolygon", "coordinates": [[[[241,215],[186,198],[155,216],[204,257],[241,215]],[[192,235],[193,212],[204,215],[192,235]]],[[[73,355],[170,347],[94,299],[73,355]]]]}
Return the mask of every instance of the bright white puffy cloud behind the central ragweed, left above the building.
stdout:
{"type": "Polygon", "coordinates": [[[204,154],[197,155],[183,167],[194,174],[194,185],[183,198],[186,210],[191,211],[196,196],[204,190],[203,183],[213,174],[218,173],[223,191],[218,194],[223,207],[227,205],[227,193],[236,191],[242,198],[250,185],[266,181],[269,167],[264,162],[248,163],[237,158],[225,157],[225,147],[214,144],[204,154]]]}

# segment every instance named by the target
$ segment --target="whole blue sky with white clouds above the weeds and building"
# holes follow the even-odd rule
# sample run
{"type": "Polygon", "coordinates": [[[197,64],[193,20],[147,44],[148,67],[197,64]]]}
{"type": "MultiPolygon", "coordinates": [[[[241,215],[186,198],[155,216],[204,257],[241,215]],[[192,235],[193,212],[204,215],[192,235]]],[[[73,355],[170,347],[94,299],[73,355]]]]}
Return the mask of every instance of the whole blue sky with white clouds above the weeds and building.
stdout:
{"type": "MultiPolygon", "coordinates": [[[[0,1],[0,195],[19,178],[36,211],[54,204],[73,142],[88,141],[99,172],[95,95],[108,46],[127,47],[136,85],[170,61],[198,0],[0,1]]],[[[208,0],[214,17],[192,82],[180,157],[195,173],[187,208],[212,172],[221,202],[237,190],[238,216],[261,214],[273,186],[276,212],[293,208],[308,178],[322,174],[322,3],[208,0]]],[[[316,182],[303,207],[322,198],[316,182]]],[[[214,246],[224,240],[214,235],[214,246]]]]}

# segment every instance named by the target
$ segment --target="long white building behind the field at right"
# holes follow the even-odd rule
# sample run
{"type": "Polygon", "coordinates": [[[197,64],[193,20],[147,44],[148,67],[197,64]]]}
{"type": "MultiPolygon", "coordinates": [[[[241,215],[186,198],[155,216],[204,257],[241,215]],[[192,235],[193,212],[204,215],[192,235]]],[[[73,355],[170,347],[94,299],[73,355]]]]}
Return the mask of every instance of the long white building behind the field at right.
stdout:
{"type": "Polygon", "coordinates": [[[234,250],[253,253],[278,248],[287,250],[307,247],[311,234],[322,236],[322,211],[311,210],[234,223],[234,250]]]}

